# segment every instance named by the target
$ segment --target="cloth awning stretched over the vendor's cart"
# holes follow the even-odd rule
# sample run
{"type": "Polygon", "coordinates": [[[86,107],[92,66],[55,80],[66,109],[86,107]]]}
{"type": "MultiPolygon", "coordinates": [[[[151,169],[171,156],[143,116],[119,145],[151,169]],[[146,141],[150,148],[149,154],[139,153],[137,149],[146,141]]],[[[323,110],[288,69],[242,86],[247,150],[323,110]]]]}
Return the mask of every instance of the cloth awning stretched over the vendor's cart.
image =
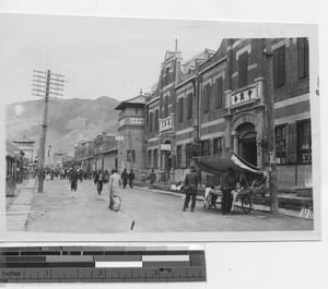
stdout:
{"type": "Polygon", "coordinates": [[[258,174],[265,173],[263,170],[247,162],[233,152],[225,152],[212,156],[195,157],[194,160],[201,170],[212,174],[221,174],[227,171],[229,168],[237,171],[247,170],[258,174]]]}

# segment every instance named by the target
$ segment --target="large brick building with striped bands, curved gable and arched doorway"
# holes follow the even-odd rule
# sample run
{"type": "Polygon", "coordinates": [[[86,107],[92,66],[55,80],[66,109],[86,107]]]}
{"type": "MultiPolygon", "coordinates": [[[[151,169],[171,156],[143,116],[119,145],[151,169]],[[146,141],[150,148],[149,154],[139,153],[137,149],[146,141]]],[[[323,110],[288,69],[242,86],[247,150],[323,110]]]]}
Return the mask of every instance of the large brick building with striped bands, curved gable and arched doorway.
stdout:
{"type": "MultiPolygon", "coordinates": [[[[268,166],[257,145],[268,133],[263,49],[260,38],[223,39],[216,51],[204,49],[186,62],[179,51],[166,51],[140,125],[145,143],[138,145],[143,145],[148,170],[183,180],[190,161],[186,147],[195,141],[201,155],[233,150],[253,165],[268,166]]],[[[278,185],[311,186],[308,40],[272,39],[272,52],[278,185]]]]}

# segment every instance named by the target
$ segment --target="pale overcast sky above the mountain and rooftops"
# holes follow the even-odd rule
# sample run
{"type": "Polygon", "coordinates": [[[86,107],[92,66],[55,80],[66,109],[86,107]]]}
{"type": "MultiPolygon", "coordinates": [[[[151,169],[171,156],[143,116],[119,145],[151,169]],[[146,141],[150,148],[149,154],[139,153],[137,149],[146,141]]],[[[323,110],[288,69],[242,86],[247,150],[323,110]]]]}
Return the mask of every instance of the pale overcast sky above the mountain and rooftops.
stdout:
{"type": "MultiPolygon", "coordinates": [[[[184,60],[222,37],[214,22],[51,15],[1,15],[0,86],[5,104],[36,99],[33,70],[66,76],[63,98],[109,96],[119,100],[150,92],[167,49],[184,60]]],[[[3,97],[2,97],[3,99],[3,97]]]]}

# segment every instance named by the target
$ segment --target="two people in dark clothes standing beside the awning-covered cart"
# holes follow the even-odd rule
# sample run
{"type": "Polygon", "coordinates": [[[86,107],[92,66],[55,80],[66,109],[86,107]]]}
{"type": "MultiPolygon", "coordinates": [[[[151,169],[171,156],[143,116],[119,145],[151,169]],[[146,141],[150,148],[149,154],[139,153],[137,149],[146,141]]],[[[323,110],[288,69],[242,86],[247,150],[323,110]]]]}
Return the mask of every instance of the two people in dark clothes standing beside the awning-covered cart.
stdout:
{"type": "MultiPolygon", "coordinates": [[[[199,184],[199,180],[196,173],[196,167],[191,166],[190,172],[187,173],[185,177],[184,190],[186,193],[186,198],[183,207],[184,212],[186,212],[186,209],[188,208],[190,200],[191,200],[190,212],[195,210],[198,184],[199,184]]],[[[232,191],[235,189],[235,186],[236,186],[236,181],[235,181],[234,170],[232,168],[229,168],[227,171],[224,172],[221,178],[221,190],[223,194],[221,198],[222,215],[229,214],[232,209],[232,203],[233,203],[232,191]]]]}

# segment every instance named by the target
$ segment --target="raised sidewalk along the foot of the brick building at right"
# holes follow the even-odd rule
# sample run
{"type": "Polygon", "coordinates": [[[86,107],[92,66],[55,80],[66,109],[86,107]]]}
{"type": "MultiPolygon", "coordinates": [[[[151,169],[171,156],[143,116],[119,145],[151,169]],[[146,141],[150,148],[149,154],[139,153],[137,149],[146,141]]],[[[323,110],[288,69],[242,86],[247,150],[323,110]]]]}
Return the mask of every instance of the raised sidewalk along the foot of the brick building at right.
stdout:
{"type": "MultiPolygon", "coordinates": [[[[161,193],[161,194],[168,194],[168,195],[173,195],[176,197],[181,197],[185,198],[185,195],[183,193],[178,193],[178,192],[173,192],[173,191],[168,191],[168,190],[160,190],[160,189],[153,189],[151,190],[149,186],[134,186],[136,189],[140,189],[140,190],[147,190],[150,192],[155,192],[155,193],[161,193]]],[[[280,196],[281,198],[290,198],[290,201],[294,201],[294,197],[290,196],[290,195],[282,195],[280,196]]],[[[302,197],[297,197],[302,198],[302,197]]],[[[197,201],[203,202],[203,196],[197,195],[197,201]]],[[[297,201],[298,202],[298,201],[297,201]]],[[[220,203],[220,197],[218,197],[216,203],[220,203]]],[[[201,204],[202,205],[202,204],[201,204]]],[[[241,202],[236,202],[235,203],[236,207],[242,207],[241,202]]],[[[270,206],[267,205],[261,205],[261,204],[254,204],[254,209],[255,212],[250,212],[249,214],[256,214],[256,212],[263,212],[263,213],[270,213],[270,206]]],[[[290,217],[302,217],[302,218],[307,218],[307,219],[313,219],[313,212],[312,210],[302,210],[300,209],[286,209],[286,208],[279,208],[279,215],[284,215],[284,216],[290,216],[290,217]],[[302,215],[301,215],[302,213],[302,215]]]]}

